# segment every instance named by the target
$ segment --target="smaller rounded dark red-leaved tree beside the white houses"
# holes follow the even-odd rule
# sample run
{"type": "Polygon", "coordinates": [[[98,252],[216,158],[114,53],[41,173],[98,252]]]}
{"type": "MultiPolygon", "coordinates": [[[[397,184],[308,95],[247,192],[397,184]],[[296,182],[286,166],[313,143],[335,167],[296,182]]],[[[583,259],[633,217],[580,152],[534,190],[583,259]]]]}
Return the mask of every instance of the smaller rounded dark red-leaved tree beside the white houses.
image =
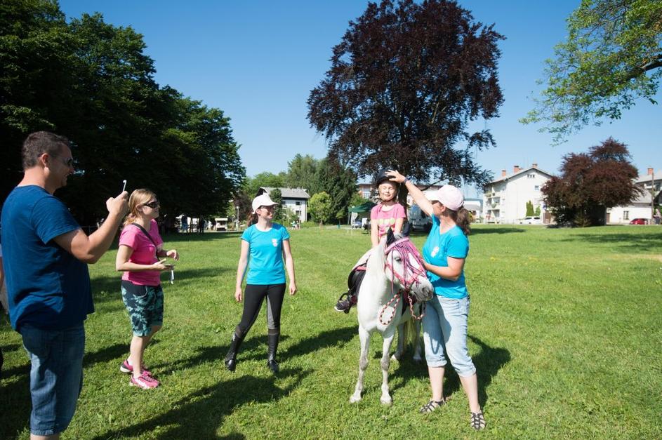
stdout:
{"type": "Polygon", "coordinates": [[[563,157],[560,177],[552,177],[542,192],[557,222],[576,226],[603,225],[607,208],[629,204],[641,194],[635,185],[637,168],[625,144],[609,138],[588,153],[563,157]]]}

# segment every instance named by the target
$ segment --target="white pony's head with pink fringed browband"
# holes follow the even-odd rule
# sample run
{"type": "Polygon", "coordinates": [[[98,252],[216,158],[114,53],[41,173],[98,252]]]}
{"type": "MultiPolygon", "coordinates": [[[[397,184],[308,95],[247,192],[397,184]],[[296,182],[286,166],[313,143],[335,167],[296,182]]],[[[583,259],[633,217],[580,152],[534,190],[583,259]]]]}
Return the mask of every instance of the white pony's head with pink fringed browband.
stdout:
{"type": "MultiPolygon", "coordinates": [[[[409,228],[404,232],[409,232],[409,228]]],[[[408,235],[393,234],[388,229],[379,246],[383,252],[378,253],[384,255],[385,275],[393,286],[412,293],[419,301],[427,301],[432,298],[434,288],[425,274],[421,253],[413,246],[408,235]]]]}

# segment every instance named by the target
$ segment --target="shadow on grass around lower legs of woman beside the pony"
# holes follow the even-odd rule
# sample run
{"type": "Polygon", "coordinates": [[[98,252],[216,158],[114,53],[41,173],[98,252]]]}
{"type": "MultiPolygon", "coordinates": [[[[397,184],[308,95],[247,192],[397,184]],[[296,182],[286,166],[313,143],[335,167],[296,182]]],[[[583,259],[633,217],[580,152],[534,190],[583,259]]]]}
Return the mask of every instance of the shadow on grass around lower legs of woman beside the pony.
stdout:
{"type": "MultiPolygon", "coordinates": [[[[475,336],[469,336],[469,339],[480,347],[480,352],[472,356],[472,360],[478,375],[478,401],[483,408],[489,400],[487,387],[501,367],[510,362],[510,352],[505,348],[490,347],[475,336]]],[[[445,376],[444,397],[448,399],[460,389],[461,385],[460,378],[450,364],[446,364],[445,376]]]]}

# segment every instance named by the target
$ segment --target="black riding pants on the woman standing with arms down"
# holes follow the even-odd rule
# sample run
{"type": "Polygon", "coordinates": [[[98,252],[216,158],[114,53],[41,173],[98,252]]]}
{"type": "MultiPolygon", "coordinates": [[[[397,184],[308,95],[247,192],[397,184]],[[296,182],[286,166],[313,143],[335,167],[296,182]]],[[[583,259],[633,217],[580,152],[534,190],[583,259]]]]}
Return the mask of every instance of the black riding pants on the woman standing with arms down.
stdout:
{"type": "Polygon", "coordinates": [[[246,284],[244,289],[244,313],[241,314],[239,331],[246,336],[260,314],[262,302],[267,298],[267,328],[280,329],[280,311],[285,297],[285,284],[246,284]]]}

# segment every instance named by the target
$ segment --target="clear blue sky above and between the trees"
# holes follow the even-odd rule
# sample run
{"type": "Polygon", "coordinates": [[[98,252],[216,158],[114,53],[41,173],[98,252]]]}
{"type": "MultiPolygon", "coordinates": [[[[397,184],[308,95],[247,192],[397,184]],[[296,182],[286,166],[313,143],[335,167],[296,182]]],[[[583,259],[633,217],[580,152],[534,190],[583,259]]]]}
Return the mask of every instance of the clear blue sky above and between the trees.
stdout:
{"type": "MultiPolygon", "coordinates": [[[[497,147],[477,152],[494,173],[514,165],[556,173],[563,154],[583,152],[613,136],[624,142],[640,173],[662,170],[661,105],[640,102],[623,118],[587,127],[568,142],[550,146],[551,135],[517,120],[532,107],[529,96],[553,46],[564,39],[565,19],[579,0],[463,0],[475,20],[494,23],[501,41],[501,116],[477,121],[491,129],[497,147]],[[655,153],[657,152],[657,153],[655,153]]],[[[248,175],[286,171],[297,153],[326,155],[324,137],[307,122],[306,100],[329,68],[331,48],[366,1],[135,1],[62,0],[67,18],[100,12],[106,22],[131,26],[144,36],[155,79],[184,95],[218,107],[231,119],[248,175]]],[[[662,93],[658,94],[662,102],[662,93]]],[[[365,180],[365,179],[362,179],[365,180]]]]}

